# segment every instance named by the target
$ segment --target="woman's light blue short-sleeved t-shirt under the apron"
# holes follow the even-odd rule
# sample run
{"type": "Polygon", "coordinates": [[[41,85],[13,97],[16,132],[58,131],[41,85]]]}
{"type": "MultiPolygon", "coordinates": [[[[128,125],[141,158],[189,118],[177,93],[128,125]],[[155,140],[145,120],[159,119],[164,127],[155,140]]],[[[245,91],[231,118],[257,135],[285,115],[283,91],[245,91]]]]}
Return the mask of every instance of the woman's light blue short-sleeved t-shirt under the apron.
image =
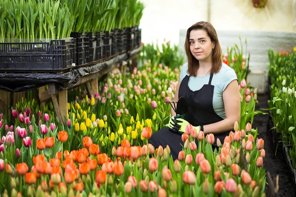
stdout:
{"type": "MultiPolygon", "coordinates": [[[[182,81],[186,75],[189,76],[187,70],[188,70],[188,63],[185,63],[181,67],[180,81],[182,81]]],[[[208,84],[209,80],[210,80],[210,74],[203,77],[190,76],[188,81],[188,87],[192,91],[196,91],[201,89],[204,84],[208,84]]],[[[227,87],[227,85],[233,80],[238,80],[235,74],[235,71],[224,63],[222,63],[222,67],[220,71],[213,75],[213,79],[211,83],[214,86],[213,108],[214,108],[214,111],[217,113],[217,115],[219,115],[223,119],[225,119],[226,116],[225,116],[225,109],[224,109],[222,94],[225,88],[227,87]]]]}

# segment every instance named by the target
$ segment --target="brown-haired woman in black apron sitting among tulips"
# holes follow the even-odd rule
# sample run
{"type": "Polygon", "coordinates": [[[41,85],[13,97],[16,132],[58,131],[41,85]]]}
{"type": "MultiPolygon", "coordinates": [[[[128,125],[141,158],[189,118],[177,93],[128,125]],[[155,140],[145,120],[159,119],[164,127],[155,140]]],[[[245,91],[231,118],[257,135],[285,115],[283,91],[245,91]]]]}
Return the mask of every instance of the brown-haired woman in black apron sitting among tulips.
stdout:
{"type": "MultiPolygon", "coordinates": [[[[198,22],[187,30],[185,51],[188,62],[181,68],[173,101],[177,102],[181,97],[186,99],[188,112],[185,120],[193,126],[200,126],[205,135],[213,133],[214,148],[217,147],[217,138],[223,143],[225,136],[233,130],[235,121],[240,120],[238,79],[234,70],[222,63],[222,49],[210,23],[198,22]]],[[[175,119],[176,113],[172,108],[171,114],[175,119]]],[[[164,127],[151,136],[149,143],[156,148],[169,145],[175,160],[184,146],[181,133],[164,127]]]]}

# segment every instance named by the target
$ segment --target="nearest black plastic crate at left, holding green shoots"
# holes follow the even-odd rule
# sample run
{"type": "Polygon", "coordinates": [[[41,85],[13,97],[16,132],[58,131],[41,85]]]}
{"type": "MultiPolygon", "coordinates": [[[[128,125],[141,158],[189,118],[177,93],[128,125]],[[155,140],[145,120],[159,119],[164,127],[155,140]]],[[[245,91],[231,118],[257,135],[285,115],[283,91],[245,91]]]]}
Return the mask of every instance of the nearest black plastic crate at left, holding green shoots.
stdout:
{"type": "Polygon", "coordinates": [[[0,43],[0,70],[62,70],[74,66],[72,38],[48,42],[0,43]]]}

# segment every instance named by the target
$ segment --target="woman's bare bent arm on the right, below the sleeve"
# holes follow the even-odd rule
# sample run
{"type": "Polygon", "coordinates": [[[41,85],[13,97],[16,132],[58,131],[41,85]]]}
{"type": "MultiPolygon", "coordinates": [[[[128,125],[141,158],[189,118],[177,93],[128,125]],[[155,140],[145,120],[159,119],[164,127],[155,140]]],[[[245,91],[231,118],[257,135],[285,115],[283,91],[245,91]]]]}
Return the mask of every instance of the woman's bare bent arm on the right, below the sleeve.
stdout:
{"type": "Polygon", "coordinates": [[[226,118],[217,123],[204,125],[204,133],[221,133],[233,130],[235,121],[240,120],[240,93],[237,81],[231,81],[223,92],[223,102],[226,118]]]}

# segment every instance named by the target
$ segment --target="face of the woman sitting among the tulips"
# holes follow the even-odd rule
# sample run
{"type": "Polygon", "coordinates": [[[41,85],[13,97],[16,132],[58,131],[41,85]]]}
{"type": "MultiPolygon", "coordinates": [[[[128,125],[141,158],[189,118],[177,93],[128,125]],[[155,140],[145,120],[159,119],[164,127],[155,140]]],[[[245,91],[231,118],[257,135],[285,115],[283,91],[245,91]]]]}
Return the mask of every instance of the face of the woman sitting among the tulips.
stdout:
{"type": "Polygon", "coordinates": [[[212,42],[204,30],[192,30],[189,36],[190,51],[193,57],[201,62],[212,60],[215,42],[212,42]]]}

